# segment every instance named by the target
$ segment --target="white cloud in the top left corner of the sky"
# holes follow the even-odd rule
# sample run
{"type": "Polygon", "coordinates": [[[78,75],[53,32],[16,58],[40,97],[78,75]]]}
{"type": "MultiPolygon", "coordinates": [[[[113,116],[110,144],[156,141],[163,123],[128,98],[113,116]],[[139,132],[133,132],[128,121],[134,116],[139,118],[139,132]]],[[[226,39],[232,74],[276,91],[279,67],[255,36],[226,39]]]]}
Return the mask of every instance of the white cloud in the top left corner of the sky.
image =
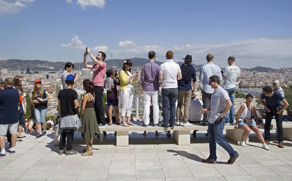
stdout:
{"type": "Polygon", "coordinates": [[[14,14],[35,0],[0,0],[0,14],[14,14]]]}

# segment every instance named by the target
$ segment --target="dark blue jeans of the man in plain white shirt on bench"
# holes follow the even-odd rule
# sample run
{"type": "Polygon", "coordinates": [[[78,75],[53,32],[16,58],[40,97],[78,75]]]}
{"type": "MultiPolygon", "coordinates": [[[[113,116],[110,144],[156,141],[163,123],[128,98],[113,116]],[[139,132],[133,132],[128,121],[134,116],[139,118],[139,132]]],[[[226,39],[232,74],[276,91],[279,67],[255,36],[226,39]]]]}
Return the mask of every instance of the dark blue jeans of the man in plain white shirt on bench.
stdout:
{"type": "Polygon", "coordinates": [[[175,120],[175,103],[178,99],[178,88],[163,88],[162,95],[162,112],[164,125],[168,125],[168,103],[170,105],[170,124],[174,124],[175,120]]]}

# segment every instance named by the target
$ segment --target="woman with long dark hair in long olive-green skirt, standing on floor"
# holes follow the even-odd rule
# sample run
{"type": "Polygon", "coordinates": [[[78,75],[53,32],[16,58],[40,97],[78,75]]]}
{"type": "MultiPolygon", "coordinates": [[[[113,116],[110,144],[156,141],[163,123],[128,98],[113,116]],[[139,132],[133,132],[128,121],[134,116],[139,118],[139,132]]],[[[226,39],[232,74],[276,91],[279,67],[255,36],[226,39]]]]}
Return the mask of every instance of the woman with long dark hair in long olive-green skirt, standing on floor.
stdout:
{"type": "Polygon", "coordinates": [[[94,134],[98,135],[98,139],[100,141],[102,141],[102,137],[98,128],[95,111],[93,108],[95,98],[94,85],[89,79],[86,79],[83,81],[83,89],[86,91],[86,93],[83,95],[80,112],[82,120],[81,136],[85,139],[87,146],[84,150],[85,153],[82,153],[81,155],[89,156],[93,155],[92,143],[94,134]]]}

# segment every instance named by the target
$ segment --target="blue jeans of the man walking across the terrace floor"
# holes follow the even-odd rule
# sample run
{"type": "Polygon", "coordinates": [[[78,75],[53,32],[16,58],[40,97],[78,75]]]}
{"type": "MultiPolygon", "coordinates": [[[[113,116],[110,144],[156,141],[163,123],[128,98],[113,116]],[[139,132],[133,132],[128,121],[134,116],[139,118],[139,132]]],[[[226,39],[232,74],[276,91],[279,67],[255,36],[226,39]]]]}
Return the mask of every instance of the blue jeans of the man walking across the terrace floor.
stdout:
{"type": "Polygon", "coordinates": [[[209,140],[209,149],[210,156],[208,159],[212,161],[217,161],[216,156],[216,143],[224,148],[230,155],[230,157],[237,157],[238,153],[235,151],[227,141],[223,139],[223,129],[224,129],[224,121],[222,119],[215,123],[208,123],[208,140],[209,140]]]}

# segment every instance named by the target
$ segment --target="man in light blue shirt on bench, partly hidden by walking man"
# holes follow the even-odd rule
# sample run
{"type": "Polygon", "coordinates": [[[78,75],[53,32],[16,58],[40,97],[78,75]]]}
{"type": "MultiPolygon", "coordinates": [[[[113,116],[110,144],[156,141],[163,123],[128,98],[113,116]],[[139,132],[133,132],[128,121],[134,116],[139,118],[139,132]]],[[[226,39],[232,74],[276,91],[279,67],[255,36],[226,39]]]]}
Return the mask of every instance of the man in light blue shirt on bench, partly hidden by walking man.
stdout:
{"type": "MultiPolygon", "coordinates": [[[[212,54],[208,54],[207,57],[208,64],[201,67],[200,71],[200,82],[203,84],[202,90],[202,100],[203,100],[203,108],[209,109],[211,103],[211,95],[214,93],[214,89],[209,85],[209,78],[213,75],[217,75],[219,77],[219,81],[222,81],[220,67],[214,64],[214,56],[212,54]]],[[[218,82],[220,84],[220,82],[218,82]]],[[[203,121],[200,125],[207,126],[208,119],[210,117],[210,113],[204,113],[203,121]]]]}

